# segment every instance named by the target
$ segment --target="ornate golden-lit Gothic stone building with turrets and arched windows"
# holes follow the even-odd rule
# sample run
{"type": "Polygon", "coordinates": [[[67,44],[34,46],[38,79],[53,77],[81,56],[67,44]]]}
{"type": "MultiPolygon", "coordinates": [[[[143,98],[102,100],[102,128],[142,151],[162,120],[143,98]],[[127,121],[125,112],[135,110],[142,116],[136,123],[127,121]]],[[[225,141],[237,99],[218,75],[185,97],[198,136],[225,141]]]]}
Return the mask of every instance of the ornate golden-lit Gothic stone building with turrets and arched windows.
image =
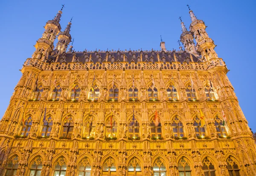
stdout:
{"type": "Polygon", "coordinates": [[[190,31],[181,23],[185,51],[164,42],[160,51],[66,51],[71,22],[61,32],[61,14],[47,22],[0,121],[0,175],[256,175],[227,67],[192,11],[190,31]]]}

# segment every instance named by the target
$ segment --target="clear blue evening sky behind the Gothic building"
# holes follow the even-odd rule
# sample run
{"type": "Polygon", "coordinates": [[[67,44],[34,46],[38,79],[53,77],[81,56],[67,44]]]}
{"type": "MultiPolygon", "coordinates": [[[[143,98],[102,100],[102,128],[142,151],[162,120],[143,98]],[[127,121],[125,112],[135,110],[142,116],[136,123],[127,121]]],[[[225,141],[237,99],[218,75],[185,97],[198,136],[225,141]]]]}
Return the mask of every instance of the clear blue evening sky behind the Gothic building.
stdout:
{"type": "Polygon", "coordinates": [[[61,4],[62,30],[72,20],[71,36],[76,51],[101,49],[160,49],[160,35],[166,48],[178,49],[181,27],[178,17],[189,28],[186,4],[208,26],[206,31],[214,40],[218,57],[230,69],[228,77],[235,88],[239,104],[256,132],[254,113],[254,68],[256,51],[255,0],[44,0],[0,1],[1,69],[0,117],[9,105],[13,89],[21,77],[19,69],[35,51],[43,26],[52,20],[61,4]]]}

